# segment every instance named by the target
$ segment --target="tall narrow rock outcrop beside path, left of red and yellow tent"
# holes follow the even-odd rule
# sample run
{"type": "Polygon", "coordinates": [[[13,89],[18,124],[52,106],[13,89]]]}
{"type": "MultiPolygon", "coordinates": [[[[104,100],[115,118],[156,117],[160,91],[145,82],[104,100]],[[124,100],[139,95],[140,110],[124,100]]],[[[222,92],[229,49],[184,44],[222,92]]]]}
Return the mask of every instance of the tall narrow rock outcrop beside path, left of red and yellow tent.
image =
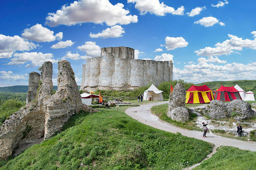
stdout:
{"type": "Polygon", "coordinates": [[[189,120],[188,109],[185,108],[186,90],[182,84],[177,83],[170,94],[167,116],[173,120],[185,122],[189,120]]]}

